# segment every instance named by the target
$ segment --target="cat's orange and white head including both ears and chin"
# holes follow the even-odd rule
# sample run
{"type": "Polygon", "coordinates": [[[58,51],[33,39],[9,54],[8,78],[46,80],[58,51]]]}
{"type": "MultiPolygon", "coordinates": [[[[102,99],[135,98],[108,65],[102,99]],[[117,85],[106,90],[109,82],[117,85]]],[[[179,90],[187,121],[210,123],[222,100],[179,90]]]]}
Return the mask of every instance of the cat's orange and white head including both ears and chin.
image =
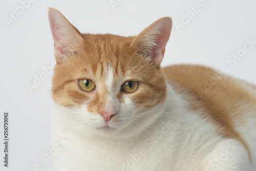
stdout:
{"type": "Polygon", "coordinates": [[[81,34],[52,8],[49,20],[60,122],[78,134],[131,136],[159,116],[167,90],[160,63],[172,29],[169,17],[131,37],[81,34]]]}

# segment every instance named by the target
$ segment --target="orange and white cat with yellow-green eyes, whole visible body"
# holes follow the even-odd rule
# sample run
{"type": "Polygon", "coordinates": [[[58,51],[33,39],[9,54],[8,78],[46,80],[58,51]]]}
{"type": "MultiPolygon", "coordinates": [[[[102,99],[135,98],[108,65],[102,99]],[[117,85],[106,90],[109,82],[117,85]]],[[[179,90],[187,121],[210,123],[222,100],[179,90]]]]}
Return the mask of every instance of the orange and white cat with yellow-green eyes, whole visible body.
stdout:
{"type": "Polygon", "coordinates": [[[66,144],[57,171],[256,170],[256,87],[204,66],[161,68],[171,18],[129,37],[82,34],[53,8],[49,21],[52,144],[66,144]]]}

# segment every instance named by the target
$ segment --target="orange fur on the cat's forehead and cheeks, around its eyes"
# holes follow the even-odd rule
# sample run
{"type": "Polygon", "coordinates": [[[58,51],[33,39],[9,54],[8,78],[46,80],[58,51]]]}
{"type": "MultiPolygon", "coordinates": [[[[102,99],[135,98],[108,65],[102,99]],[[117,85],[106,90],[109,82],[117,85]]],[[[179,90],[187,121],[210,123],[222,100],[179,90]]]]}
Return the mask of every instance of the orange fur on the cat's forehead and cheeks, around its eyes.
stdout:
{"type": "MultiPolygon", "coordinates": [[[[124,76],[140,82],[139,90],[129,94],[140,107],[148,108],[164,101],[166,97],[165,79],[162,70],[151,63],[150,58],[136,52],[131,46],[135,37],[121,37],[111,34],[81,34],[84,47],[78,54],[69,55],[64,62],[57,63],[53,76],[53,99],[62,105],[82,105],[84,101],[92,113],[104,108],[108,91],[105,84],[105,67],[114,70],[115,80],[124,76]],[[132,58],[131,58],[132,57],[132,58]],[[95,82],[97,94],[81,91],[78,79],[91,79],[95,82]],[[161,91],[159,91],[161,90],[161,91]],[[159,98],[155,98],[158,96],[159,98]],[[84,101],[82,101],[84,99],[84,101]]],[[[126,81],[126,80],[123,80],[126,81]]],[[[121,90],[121,87],[120,87],[121,90]]],[[[122,94],[116,97],[123,102],[122,94]]]]}

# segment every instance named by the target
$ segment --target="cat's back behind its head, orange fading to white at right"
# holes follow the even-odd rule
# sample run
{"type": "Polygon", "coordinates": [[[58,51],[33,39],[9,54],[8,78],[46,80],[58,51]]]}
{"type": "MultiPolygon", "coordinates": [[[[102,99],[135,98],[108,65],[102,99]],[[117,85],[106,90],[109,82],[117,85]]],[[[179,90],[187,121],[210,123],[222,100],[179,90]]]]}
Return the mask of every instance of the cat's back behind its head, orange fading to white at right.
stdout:
{"type": "Polygon", "coordinates": [[[168,83],[188,100],[191,110],[217,124],[223,137],[244,144],[256,162],[254,85],[203,66],[175,65],[163,71],[168,83]]]}

